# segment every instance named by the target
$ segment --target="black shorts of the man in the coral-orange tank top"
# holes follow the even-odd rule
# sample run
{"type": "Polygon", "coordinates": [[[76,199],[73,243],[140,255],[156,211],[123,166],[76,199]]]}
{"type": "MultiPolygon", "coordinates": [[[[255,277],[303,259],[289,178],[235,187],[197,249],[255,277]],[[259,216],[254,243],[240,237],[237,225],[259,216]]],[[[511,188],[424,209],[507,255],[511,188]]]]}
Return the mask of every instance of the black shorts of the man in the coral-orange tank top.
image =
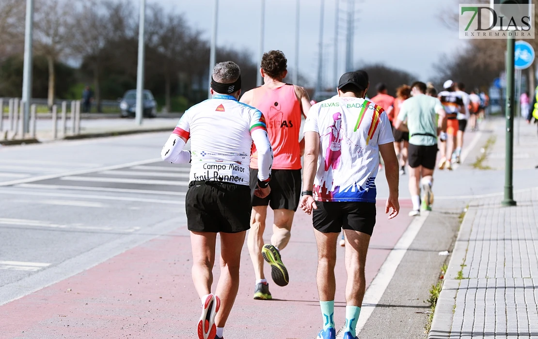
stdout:
{"type": "Polygon", "coordinates": [[[297,211],[301,198],[301,170],[272,170],[271,193],[265,198],[254,196],[258,187],[258,170],[250,169],[252,206],[271,206],[273,210],[297,211]]]}

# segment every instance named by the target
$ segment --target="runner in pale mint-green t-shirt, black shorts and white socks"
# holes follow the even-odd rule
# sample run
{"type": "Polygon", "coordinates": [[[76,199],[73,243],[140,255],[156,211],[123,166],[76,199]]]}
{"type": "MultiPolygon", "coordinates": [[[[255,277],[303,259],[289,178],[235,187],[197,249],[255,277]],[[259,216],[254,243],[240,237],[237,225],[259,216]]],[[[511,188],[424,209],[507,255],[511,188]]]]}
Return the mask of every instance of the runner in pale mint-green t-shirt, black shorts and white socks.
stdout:
{"type": "Polygon", "coordinates": [[[446,113],[439,99],[424,95],[427,90],[425,83],[415,82],[411,87],[413,97],[401,105],[394,127],[409,132],[409,192],[413,202],[409,215],[413,217],[420,214],[420,207],[424,211],[431,211],[434,202],[431,187],[437,157],[437,135],[446,113]]]}

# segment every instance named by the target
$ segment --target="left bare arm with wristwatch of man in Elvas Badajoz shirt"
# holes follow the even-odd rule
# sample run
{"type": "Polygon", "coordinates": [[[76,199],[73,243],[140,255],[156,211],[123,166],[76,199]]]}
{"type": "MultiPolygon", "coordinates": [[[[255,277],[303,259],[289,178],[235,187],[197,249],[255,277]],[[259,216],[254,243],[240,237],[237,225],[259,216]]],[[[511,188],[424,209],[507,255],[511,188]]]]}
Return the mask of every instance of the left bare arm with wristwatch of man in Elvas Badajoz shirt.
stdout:
{"type": "MultiPolygon", "coordinates": [[[[312,191],[314,178],[317,172],[317,157],[320,153],[320,134],[316,132],[305,133],[305,166],[303,167],[303,191],[312,191]]],[[[312,196],[302,196],[299,204],[306,213],[312,213],[317,209],[312,196]]]]}

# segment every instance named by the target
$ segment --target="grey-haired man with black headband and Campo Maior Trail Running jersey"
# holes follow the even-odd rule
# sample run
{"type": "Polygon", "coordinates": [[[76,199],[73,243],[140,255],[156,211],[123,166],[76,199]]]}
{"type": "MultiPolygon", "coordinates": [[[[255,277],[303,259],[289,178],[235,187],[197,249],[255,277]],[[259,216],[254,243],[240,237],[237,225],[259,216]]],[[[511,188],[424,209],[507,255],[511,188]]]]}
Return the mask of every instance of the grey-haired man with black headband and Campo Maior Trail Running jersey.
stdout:
{"type": "Polygon", "coordinates": [[[199,339],[222,339],[239,288],[239,262],[250,228],[252,210],[249,160],[252,142],[258,149],[260,198],[271,189],[273,152],[263,114],[239,103],[241,77],[237,64],[218,63],[211,80],[212,99],[191,107],[162,148],[162,160],[189,163],[187,227],[193,251],[192,276],[202,301],[199,339]],[[190,139],[190,149],[183,150],[190,139]],[[221,239],[221,276],[211,293],[215,243],[221,239]]]}

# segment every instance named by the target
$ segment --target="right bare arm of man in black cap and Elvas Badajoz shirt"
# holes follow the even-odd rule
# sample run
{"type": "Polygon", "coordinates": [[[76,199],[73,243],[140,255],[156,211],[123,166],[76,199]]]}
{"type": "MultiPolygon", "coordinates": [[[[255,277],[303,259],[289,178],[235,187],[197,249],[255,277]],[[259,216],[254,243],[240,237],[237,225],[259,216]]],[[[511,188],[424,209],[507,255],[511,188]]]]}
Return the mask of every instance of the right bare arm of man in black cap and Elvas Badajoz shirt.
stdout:
{"type": "Polygon", "coordinates": [[[385,206],[385,213],[388,213],[392,208],[391,214],[388,219],[392,219],[400,213],[400,204],[398,202],[400,182],[400,175],[398,172],[398,158],[394,152],[394,145],[392,142],[379,145],[379,152],[385,162],[385,176],[388,183],[388,199],[385,206]]]}

